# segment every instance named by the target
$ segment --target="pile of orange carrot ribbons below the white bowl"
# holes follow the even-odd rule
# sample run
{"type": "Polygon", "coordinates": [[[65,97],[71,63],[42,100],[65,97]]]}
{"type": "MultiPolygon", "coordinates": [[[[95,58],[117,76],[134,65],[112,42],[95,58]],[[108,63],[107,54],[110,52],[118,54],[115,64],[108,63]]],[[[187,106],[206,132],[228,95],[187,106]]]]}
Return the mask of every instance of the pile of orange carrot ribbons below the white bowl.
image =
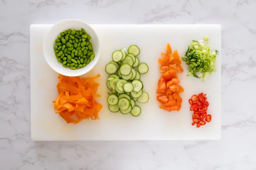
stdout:
{"type": "Polygon", "coordinates": [[[80,79],[79,77],[67,77],[59,74],[60,82],[57,84],[59,96],[54,103],[54,112],[66,120],[67,123],[77,124],[83,119],[98,119],[98,112],[102,105],[95,101],[99,84],[94,77],[80,79]]]}

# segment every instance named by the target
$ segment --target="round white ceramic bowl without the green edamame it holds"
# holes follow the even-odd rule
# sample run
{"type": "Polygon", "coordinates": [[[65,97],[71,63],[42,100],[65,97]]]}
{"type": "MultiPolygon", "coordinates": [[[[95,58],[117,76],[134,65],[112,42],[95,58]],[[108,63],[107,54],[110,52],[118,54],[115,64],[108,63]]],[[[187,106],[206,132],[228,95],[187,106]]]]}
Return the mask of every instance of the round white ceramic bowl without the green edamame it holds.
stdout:
{"type": "Polygon", "coordinates": [[[86,74],[87,72],[89,72],[98,62],[100,58],[100,41],[95,31],[85,22],[76,19],[66,19],[54,24],[53,27],[49,29],[44,37],[43,52],[47,63],[54,71],[64,76],[81,76],[82,74],[86,74]],[[95,53],[95,58],[91,60],[91,62],[85,67],[72,70],[69,67],[63,67],[62,64],[58,62],[57,58],[55,57],[53,46],[55,45],[55,39],[57,38],[57,36],[60,35],[61,32],[67,29],[81,28],[84,28],[86,33],[91,36],[90,42],[93,45],[93,52],[95,53]]]}

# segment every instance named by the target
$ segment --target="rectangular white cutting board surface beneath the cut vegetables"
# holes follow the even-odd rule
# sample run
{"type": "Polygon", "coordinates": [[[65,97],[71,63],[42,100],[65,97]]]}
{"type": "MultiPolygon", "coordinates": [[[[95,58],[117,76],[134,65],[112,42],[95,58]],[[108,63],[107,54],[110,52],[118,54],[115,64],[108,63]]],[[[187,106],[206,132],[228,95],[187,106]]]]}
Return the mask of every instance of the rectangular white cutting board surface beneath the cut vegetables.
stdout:
{"type": "MultiPolygon", "coordinates": [[[[54,72],[42,51],[44,35],[52,25],[30,26],[30,72],[31,72],[31,138],[34,141],[60,140],[179,140],[220,139],[221,137],[221,26],[220,25],[91,25],[101,43],[98,64],[84,76],[100,74],[97,101],[103,105],[100,120],[83,120],[79,124],[67,124],[54,113],[52,101],[58,96],[58,74],[54,72]],[[218,50],[217,72],[205,82],[195,77],[186,77],[187,66],[182,62],[184,73],[178,77],[185,91],[181,94],[180,112],[167,112],[158,108],[157,82],[160,78],[157,63],[165,45],[178,50],[183,57],[192,39],[209,38],[212,50],[218,50]],[[130,114],[111,113],[107,105],[105,65],[112,60],[112,52],[130,45],[140,48],[140,62],[146,62],[149,72],[142,75],[144,91],[149,93],[146,104],[137,104],[142,112],[139,117],[130,114]],[[188,99],[193,94],[206,93],[210,103],[208,113],[212,121],[205,126],[192,126],[188,99]]],[[[71,71],[71,70],[70,70],[71,71]]],[[[136,102],[138,103],[138,102],[136,102]]]]}

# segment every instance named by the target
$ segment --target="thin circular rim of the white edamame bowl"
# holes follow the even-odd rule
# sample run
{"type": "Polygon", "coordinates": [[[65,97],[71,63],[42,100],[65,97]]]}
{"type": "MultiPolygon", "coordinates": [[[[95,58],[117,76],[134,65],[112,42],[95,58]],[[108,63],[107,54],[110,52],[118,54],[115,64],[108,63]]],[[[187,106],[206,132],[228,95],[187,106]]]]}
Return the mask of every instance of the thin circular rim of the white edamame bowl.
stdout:
{"type": "MultiPolygon", "coordinates": [[[[73,74],[71,74],[71,75],[70,75],[70,74],[62,74],[62,73],[56,71],[56,69],[53,67],[54,64],[50,64],[50,62],[47,60],[47,57],[46,57],[46,55],[45,55],[45,50],[46,50],[45,43],[46,43],[47,34],[49,34],[50,31],[51,31],[52,29],[54,29],[56,26],[58,26],[58,24],[60,24],[61,22],[67,22],[67,21],[82,22],[82,23],[85,24],[87,27],[89,27],[89,28],[91,29],[91,31],[96,35],[95,37],[93,37],[93,39],[96,39],[96,41],[98,42],[98,49],[99,49],[99,50],[98,50],[98,54],[95,55],[95,58],[94,58],[94,60],[96,60],[95,65],[97,64],[97,62],[98,62],[98,60],[99,60],[99,58],[100,58],[100,40],[99,40],[99,38],[98,38],[98,35],[96,34],[96,32],[94,31],[94,29],[93,29],[89,24],[87,24],[87,23],[84,22],[84,21],[78,20],[78,19],[64,19],[64,20],[58,21],[58,22],[56,22],[55,24],[53,24],[53,26],[52,26],[52,27],[47,31],[47,33],[44,35],[43,45],[42,45],[42,50],[43,50],[44,58],[45,58],[47,64],[51,67],[51,69],[53,69],[53,70],[54,70],[55,72],[57,72],[58,74],[61,74],[61,75],[63,75],[63,76],[68,76],[68,77],[82,76],[82,75],[88,73],[89,71],[91,71],[91,70],[95,67],[95,65],[93,65],[93,66],[91,67],[91,69],[89,69],[89,70],[87,70],[87,71],[84,71],[84,72],[82,72],[82,73],[77,73],[77,74],[75,74],[75,72],[73,72],[73,74]],[[97,57],[96,57],[96,56],[97,56],[97,57]]],[[[86,66],[85,66],[85,67],[86,67],[86,66]]],[[[85,67],[84,67],[84,68],[85,68],[85,67]]],[[[63,67],[63,68],[65,68],[65,67],[63,67]]],[[[67,69],[68,69],[68,68],[67,68],[67,69]]],[[[72,70],[72,69],[70,69],[70,70],[72,70]]],[[[75,71],[75,70],[72,70],[72,71],[75,71]]]]}

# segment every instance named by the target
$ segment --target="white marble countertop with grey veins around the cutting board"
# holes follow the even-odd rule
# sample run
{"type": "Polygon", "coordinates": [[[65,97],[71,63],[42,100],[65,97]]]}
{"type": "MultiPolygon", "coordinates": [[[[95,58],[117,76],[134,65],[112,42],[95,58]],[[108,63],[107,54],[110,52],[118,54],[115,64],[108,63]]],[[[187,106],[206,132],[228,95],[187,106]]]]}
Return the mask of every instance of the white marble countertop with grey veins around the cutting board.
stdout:
{"type": "Polygon", "coordinates": [[[255,0],[0,0],[1,170],[255,170],[255,0]],[[33,142],[30,24],[221,24],[219,141],[33,142]]]}

